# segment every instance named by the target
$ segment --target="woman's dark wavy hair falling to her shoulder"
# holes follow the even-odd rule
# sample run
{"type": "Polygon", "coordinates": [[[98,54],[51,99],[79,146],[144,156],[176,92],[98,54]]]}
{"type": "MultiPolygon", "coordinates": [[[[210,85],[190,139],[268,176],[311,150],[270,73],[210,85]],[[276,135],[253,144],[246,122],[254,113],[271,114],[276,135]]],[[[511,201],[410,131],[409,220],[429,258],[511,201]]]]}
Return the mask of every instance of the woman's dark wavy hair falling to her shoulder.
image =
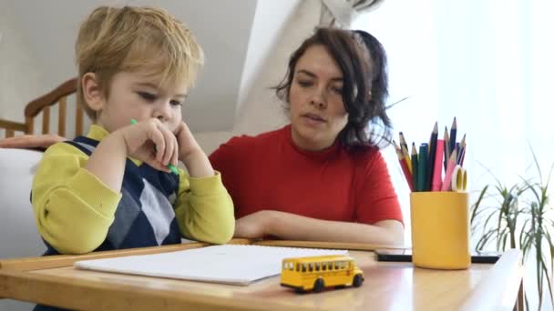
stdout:
{"type": "Polygon", "coordinates": [[[313,45],[323,45],[343,72],[343,103],[348,123],[338,135],[341,143],[349,148],[388,145],[392,125],[385,105],[388,97],[385,48],[363,30],[317,28],[292,53],[287,74],[273,87],[276,95],[289,103],[296,63],[313,45]]]}

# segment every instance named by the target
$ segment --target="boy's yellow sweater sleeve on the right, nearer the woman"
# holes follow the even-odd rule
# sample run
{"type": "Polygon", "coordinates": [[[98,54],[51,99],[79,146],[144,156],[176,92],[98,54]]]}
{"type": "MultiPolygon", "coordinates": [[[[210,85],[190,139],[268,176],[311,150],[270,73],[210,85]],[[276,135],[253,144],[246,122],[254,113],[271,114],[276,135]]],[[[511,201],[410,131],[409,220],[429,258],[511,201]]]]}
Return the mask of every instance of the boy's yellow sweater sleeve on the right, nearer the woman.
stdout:
{"type": "Polygon", "coordinates": [[[221,175],[193,178],[180,172],[175,216],[183,236],[202,242],[223,244],[235,230],[231,196],[221,175]]]}

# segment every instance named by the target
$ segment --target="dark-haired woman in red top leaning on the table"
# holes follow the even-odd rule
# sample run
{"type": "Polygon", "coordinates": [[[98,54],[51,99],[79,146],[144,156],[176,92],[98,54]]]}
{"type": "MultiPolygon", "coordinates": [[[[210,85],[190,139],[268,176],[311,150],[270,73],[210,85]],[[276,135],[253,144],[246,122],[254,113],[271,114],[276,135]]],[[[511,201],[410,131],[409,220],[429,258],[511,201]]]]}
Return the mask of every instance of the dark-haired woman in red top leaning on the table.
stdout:
{"type": "Polygon", "coordinates": [[[378,148],[390,140],[382,45],[363,31],[317,29],[275,89],[291,124],[233,137],[210,156],[235,205],[234,236],[401,245],[378,148]]]}

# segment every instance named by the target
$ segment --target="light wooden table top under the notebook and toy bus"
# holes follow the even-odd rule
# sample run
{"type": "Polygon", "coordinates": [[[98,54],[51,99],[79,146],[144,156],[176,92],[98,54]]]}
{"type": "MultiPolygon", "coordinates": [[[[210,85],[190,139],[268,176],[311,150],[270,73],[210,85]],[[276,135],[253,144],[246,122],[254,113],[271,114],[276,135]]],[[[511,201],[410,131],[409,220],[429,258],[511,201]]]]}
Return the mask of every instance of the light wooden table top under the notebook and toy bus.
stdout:
{"type": "Polygon", "coordinates": [[[511,310],[522,302],[521,254],[509,250],[495,265],[439,271],[411,263],[381,263],[359,244],[236,239],[232,244],[313,246],[351,249],[364,270],[364,285],[296,294],[279,276],[250,286],[228,286],[77,270],[83,259],[155,254],[206,246],[201,243],[0,261],[0,297],[74,309],[105,310],[511,310]],[[354,249],[354,250],[353,250],[354,249]],[[519,296],[518,296],[519,294],[519,296]]]}

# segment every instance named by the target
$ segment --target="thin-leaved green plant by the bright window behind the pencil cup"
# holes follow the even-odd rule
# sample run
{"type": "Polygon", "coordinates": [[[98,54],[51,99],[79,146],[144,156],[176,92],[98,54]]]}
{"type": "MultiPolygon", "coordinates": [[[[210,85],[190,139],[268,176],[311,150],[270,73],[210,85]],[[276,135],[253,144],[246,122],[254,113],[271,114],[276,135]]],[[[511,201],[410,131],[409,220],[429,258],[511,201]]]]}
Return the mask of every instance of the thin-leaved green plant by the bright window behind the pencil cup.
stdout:
{"type": "MultiPolygon", "coordinates": [[[[554,230],[551,215],[554,206],[549,202],[549,180],[554,166],[550,167],[548,176],[543,176],[535,153],[532,150],[531,153],[539,180],[520,177],[518,184],[506,186],[491,173],[496,183],[481,189],[471,206],[470,221],[472,236],[477,239],[476,250],[491,246],[498,251],[519,248],[523,252],[524,263],[534,264],[540,310],[547,294],[545,289],[548,289],[549,301],[554,306],[554,241],[551,235],[554,230]]],[[[526,292],[527,308],[529,295],[532,294],[526,292]]]]}

